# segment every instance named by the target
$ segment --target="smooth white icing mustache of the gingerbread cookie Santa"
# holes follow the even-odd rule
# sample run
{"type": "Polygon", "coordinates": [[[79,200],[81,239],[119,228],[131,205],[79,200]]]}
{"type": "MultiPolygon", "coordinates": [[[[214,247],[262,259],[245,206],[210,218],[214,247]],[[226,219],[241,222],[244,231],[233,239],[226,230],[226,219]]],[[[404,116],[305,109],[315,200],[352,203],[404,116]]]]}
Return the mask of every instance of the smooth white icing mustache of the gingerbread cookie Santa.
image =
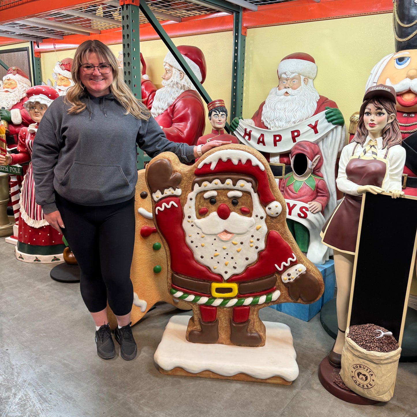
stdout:
{"type": "Polygon", "coordinates": [[[194,223],[206,235],[218,235],[223,231],[239,235],[251,229],[255,220],[252,217],[240,216],[237,213],[231,213],[228,219],[223,220],[214,212],[204,219],[195,219],[194,223]]]}

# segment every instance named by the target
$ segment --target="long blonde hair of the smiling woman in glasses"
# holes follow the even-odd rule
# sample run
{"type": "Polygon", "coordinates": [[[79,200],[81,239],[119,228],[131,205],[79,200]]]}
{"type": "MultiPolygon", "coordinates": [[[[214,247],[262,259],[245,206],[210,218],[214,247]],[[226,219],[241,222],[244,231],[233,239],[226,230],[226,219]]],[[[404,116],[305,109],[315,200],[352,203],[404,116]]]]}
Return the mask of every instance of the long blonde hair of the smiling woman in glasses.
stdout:
{"type": "Polygon", "coordinates": [[[116,100],[126,110],[125,114],[131,114],[137,119],[148,120],[151,117],[151,112],[145,106],[141,105],[128,86],[125,84],[123,78],[118,71],[118,61],[107,45],[99,40],[86,40],[75,51],[73,65],[71,68],[71,76],[74,81],[67,90],[64,96],[64,102],[70,104],[69,114],[78,114],[85,110],[86,104],[80,98],[85,94],[85,87],[81,83],[79,70],[80,65],[87,61],[87,54],[95,53],[102,62],[109,63],[113,73],[113,81],[110,85],[110,91],[113,93],[116,100]]]}

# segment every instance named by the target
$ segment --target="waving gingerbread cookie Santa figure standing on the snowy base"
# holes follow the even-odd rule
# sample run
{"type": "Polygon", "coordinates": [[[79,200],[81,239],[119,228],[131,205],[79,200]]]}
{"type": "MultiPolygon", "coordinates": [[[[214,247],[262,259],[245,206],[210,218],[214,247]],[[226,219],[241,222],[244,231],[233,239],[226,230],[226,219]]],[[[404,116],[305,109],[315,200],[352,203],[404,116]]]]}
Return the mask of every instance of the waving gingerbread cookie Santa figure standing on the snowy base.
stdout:
{"type": "Polygon", "coordinates": [[[311,303],[322,293],[259,152],[233,144],[193,166],[162,153],[148,164],[146,181],[168,255],[168,290],[193,308],[189,342],[263,346],[259,309],[311,303]]]}

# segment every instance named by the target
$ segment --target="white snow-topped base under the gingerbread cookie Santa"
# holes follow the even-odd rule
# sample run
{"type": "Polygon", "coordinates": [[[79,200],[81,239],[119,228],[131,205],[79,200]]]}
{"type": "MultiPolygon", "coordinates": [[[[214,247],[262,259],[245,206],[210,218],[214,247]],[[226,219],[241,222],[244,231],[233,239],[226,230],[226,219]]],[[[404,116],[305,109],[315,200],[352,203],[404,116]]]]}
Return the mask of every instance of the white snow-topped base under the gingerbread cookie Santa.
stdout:
{"type": "Polygon", "coordinates": [[[286,324],[264,322],[265,346],[240,347],[187,342],[189,318],[173,316],[168,322],[154,355],[161,373],[284,385],[298,377],[291,329],[286,324]]]}

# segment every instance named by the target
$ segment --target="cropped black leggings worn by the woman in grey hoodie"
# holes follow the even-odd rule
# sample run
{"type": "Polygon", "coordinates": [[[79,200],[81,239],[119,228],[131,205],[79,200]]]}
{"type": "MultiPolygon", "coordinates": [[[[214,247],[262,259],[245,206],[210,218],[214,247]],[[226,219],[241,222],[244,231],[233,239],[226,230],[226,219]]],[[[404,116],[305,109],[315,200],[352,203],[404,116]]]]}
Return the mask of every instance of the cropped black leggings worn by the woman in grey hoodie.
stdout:
{"type": "Polygon", "coordinates": [[[130,268],[135,243],[135,198],[108,206],[81,206],[56,195],[63,233],[81,269],[80,290],[91,313],[107,301],[116,316],[132,309],[130,268]]]}

